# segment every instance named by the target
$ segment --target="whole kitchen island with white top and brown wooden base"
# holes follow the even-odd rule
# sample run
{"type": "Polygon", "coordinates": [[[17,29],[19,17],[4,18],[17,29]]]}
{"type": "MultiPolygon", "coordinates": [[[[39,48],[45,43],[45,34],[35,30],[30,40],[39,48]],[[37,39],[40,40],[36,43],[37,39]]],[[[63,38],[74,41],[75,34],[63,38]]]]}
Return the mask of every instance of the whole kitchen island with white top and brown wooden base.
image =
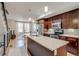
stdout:
{"type": "Polygon", "coordinates": [[[27,36],[27,49],[32,56],[66,56],[67,44],[67,41],[46,36],[27,36]]]}

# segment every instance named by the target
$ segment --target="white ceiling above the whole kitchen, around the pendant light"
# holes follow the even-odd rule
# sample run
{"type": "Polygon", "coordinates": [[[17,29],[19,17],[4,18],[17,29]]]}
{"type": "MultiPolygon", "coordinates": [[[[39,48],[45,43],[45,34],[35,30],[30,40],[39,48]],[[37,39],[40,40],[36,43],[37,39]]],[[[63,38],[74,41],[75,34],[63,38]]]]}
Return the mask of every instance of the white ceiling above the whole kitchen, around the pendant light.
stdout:
{"type": "Polygon", "coordinates": [[[79,7],[78,2],[5,2],[9,12],[8,19],[16,21],[27,21],[51,17],[79,7]],[[48,12],[44,12],[44,6],[48,6],[48,12]]]}

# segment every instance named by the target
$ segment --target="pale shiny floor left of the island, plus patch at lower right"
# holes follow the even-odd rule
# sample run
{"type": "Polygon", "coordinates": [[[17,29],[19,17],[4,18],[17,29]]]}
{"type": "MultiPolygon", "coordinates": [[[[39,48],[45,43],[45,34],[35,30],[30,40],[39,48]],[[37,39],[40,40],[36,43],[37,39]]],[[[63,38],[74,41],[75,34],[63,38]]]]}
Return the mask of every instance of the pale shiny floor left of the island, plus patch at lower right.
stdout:
{"type": "MultiPolygon", "coordinates": [[[[9,48],[7,50],[7,56],[30,56],[27,51],[27,39],[24,39],[24,35],[11,40],[9,48]]],[[[68,56],[75,56],[71,53],[67,53],[68,56]]]]}

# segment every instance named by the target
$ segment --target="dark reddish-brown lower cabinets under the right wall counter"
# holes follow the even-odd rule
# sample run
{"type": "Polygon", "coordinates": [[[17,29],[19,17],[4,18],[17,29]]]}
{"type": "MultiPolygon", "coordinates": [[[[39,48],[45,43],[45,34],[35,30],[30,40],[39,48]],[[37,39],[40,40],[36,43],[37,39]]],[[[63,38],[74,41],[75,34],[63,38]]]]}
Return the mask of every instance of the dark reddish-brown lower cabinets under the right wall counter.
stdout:
{"type": "Polygon", "coordinates": [[[69,44],[67,45],[67,51],[74,55],[79,55],[79,45],[78,45],[79,39],[78,38],[59,36],[59,39],[69,41],[69,44]]]}

